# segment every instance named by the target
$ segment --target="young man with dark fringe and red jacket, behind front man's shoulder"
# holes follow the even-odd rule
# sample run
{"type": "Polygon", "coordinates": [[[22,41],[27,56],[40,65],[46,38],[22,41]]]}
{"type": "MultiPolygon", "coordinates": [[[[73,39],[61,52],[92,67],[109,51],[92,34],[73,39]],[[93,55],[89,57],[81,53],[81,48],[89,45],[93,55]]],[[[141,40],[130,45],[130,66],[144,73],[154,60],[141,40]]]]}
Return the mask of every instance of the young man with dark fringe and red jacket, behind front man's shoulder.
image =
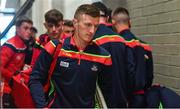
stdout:
{"type": "Polygon", "coordinates": [[[60,11],[56,9],[51,9],[44,15],[45,23],[44,26],[47,29],[45,34],[40,35],[34,44],[33,47],[33,55],[31,60],[31,66],[29,69],[24,70],[24,78],[25,82],[27,83],[29,80],[29,75],[32,71],[34,64],[41,52],[44,49],[45,44],[47,44],[52,39],[60,39],[61,32],[62,32],[62,25],[63,25],[63,15],[60,11]]]}

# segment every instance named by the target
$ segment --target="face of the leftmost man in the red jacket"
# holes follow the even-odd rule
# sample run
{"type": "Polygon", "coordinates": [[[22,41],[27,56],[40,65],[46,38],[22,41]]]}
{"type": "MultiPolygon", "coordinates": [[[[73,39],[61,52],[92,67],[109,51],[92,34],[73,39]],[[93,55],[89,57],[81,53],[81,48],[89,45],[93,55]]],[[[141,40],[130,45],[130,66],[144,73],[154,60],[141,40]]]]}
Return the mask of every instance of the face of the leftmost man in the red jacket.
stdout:
{"type": "Polygon", "coordinates": [[[19,27],[16,27],[16,33],[24,40],[29,40],[31,37],[32,24],[23,22],[19,27]]]}

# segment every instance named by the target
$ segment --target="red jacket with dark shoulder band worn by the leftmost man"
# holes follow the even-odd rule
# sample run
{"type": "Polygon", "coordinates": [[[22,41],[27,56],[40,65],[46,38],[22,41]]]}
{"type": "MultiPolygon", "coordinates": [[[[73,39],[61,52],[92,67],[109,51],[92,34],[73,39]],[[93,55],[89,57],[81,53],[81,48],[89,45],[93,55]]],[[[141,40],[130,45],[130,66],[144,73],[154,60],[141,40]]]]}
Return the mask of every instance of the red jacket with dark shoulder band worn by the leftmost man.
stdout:
{"type": "Polygon", "coordinates": [[[4,79],[3,93],[10,93],[8,83],[16,71],[24,66],[26,45],[19,36],[14,36],[5,42],[0,48],[0,71],[4,79]]]}

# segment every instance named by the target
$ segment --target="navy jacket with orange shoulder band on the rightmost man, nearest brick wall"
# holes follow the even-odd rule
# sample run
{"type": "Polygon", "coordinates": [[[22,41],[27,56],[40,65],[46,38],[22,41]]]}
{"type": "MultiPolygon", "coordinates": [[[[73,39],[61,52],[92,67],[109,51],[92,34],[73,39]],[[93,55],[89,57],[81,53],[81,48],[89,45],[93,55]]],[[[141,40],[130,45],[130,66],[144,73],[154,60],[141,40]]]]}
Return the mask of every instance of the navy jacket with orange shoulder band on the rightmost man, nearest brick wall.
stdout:
{"type": "Polygon", "coordinates": [[[133,51],[136,65],[134,92],[146,90],[153,80],[153,61],[151,47],[138,39],[129,29],[119,33],[127,42],[134,44],[133,51]],[[134,42],[133,42],[134,41],[134,42]]]}

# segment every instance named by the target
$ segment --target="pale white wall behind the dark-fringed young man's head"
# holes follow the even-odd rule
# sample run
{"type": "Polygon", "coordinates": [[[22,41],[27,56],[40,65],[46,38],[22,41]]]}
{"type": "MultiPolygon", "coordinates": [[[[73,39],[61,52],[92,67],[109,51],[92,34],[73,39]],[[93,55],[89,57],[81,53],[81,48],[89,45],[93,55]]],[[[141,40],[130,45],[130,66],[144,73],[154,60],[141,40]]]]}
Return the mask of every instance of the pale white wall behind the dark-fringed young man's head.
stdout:
{"type": "Polygon", "coordinates": [[[46,32],[44,23],[44,13],[50,9],[58,9],[64,15],[64,19],[73,19],[75,10],[81,4],[91,4],[101,0],[34,0],[32,7],[32,20],[38,29],[38,35],[46,32]]]}

